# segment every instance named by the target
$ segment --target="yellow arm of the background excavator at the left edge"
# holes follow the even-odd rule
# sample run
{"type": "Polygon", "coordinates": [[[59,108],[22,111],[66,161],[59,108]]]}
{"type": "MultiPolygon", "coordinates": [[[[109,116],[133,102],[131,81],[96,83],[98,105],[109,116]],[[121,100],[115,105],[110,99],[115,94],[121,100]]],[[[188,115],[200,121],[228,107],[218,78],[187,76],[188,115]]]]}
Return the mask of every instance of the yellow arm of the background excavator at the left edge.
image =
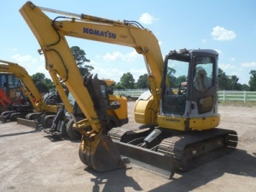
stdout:
{"type": "Polygon", "coordinates": [[[31,79],[26,69],[24,69],[16,63],[0,60],[0,71],[13,73],[14,75],[16,75],[17,78],[20,79],[20,81],[23,83],[23,91],[31,101],[35,112],[57,112],[57,105],[48,105],[43,101],[40,92],[36,88],[34,81],[31,79]],[[36,99],[36,102],[34,102],[31,94],[36,99]]]}

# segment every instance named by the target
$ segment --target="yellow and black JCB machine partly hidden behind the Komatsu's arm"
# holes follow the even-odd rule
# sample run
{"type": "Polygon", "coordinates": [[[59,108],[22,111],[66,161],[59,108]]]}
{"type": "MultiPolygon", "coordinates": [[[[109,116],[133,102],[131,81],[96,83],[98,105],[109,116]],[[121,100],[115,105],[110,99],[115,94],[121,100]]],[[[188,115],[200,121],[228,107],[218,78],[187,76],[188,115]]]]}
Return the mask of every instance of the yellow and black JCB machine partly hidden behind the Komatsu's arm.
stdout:
{"type": "MultiPolygon", "coordinates": [[[[119,127],[128,123],[127,98],[113,95],[113,89],[109,87],[113,83],[115,82],[109,79],[99,80],[103,98],[108,102],[109,122],[106,125],[106,132],[109,132],[113,127],[119,127]]],[[[82,120],[86,118],[71,93],[68,93],[68,99],[73,106],[76,119],[82,120]]],[[[51,128],[44,131],[50,135],[57,136],[59,139],[63,139],[68,135],[72,140],[80,140],[82,135],[73,129],[73,124],[74,120],[64,106],[62,106],[58,109],[51,128]]]]}

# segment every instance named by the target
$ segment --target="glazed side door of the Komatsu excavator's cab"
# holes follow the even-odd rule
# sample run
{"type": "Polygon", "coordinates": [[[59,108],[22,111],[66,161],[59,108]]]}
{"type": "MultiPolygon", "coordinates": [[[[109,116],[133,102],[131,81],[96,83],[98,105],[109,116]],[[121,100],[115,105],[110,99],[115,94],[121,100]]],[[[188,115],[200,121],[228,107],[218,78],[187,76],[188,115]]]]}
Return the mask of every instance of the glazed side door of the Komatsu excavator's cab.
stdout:
{"type": "Polygon", "coordinates": [[[218,53],[194,52],[192,57],[193,65],[190,68],[190,117],[215,116],[218,113],[218,53]]]}

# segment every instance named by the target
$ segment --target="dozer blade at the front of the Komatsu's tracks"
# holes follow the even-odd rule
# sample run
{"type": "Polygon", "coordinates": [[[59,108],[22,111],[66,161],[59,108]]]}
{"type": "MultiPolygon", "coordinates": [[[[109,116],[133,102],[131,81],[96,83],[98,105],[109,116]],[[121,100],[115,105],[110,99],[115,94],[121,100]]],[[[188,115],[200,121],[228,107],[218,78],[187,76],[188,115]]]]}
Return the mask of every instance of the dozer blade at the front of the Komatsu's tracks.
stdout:
{"type": "Polygon", "coordinates": [[[120,155],[129,158],[132,164],[143,167],[150,172],[167,179],[172,179],[175,174],[174,159],[170,155],[163,155],[147,148],[114,141],[120,155]]]}

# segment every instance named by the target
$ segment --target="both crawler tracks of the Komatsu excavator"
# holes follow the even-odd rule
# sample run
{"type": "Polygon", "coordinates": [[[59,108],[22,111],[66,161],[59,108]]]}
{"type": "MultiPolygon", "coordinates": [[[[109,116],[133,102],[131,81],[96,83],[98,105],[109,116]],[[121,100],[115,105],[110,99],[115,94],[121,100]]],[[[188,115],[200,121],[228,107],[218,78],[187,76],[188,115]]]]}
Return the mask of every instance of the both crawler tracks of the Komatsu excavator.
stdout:
{"type": "MultiPolygon", "coordinates": [[[[108,135],[118,145],[119,150],[121,149],[122,154],[127,153],[127,157],[129,157],[130,151],[134,150],[133,144],[129,144],[131,143],[130,141],[139,138],[143,134],[141,133],[143,131],[138,126],[136,128],[134,125],[127,124],[122,127],[113,128],[108,135]],[[122,145],[125,145],[125,147],[122,145]]],[[[174,132],[170,131],[168,134],[173,135],[172,133],[174,132]]],[[[215,128],[212,130],[180,133],[180,135],[165,137],[158,146],[154,147],[156,149],[154,151],[164,156],[173,157],[175,169],[182,172],[186,172],[232,152],[238,143],[238,135],[232,130],[215,128]]],[[[165,135],[167,133],[163,134],[165,135]]],[[[141,152],[147,151],[149,153],[147,149],[140,148],[141,152]]],[[[146,153],[143,156],[146,158],[146,153]]],[[[153,158],[152,161],[154,160],[153,158]]],[[[167,161],[162,161],[162,163],[168,164],[167,161]]],[[[172,162],[170,161],[169,163],[172,162]]]]}

